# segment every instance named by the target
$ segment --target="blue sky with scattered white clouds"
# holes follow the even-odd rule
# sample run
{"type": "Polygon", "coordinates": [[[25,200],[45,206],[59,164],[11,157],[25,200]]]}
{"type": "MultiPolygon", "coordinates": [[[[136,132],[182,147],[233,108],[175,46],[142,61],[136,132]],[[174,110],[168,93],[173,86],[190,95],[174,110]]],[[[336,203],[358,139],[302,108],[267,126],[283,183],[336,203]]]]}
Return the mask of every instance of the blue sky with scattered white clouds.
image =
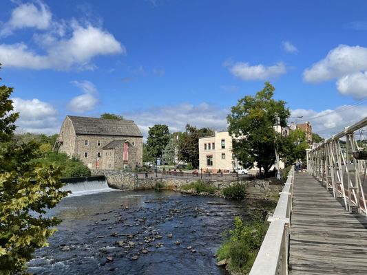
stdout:
{"type": "Polygon", "coordinates": [[[0,63],[21,133],[106,112],[145,137],[224,130],[270,81],[289,122],[331,137],[367,115],[367,1],[1,0],[0,63]]]}

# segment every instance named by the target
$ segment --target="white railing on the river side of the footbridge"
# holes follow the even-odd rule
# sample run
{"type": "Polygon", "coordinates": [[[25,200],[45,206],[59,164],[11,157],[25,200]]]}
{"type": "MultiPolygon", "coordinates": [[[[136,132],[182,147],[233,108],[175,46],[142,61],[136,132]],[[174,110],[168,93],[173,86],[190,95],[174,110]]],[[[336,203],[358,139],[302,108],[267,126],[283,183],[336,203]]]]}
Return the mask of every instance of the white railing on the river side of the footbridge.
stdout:
{"type": "Polygon", "coordinates": [[[288,274],[289,227],[292,212],[294,168],[289,171],[270,225],[250,275],[288,274]]]}

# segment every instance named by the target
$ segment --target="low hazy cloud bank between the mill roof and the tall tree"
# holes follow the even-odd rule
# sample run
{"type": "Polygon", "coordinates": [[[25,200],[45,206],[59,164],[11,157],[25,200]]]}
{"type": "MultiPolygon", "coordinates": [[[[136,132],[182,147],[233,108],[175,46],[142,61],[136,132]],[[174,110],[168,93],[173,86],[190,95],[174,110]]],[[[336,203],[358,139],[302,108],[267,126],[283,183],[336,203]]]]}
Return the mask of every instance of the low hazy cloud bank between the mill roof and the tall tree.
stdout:
{"type": "Polygon", "coordinates": [[[221,109],[215,105],[201,103],[178,104],[175,106],[154,107],[147,110],[124,113],[124,118],[134,120],[143,136],[148,135],[149,127],[154,124],[166,124],[170,132],[184,131],[186,124],[198,128],[209,127],[215,130],[227,129],[229,109],[221,109]]]}

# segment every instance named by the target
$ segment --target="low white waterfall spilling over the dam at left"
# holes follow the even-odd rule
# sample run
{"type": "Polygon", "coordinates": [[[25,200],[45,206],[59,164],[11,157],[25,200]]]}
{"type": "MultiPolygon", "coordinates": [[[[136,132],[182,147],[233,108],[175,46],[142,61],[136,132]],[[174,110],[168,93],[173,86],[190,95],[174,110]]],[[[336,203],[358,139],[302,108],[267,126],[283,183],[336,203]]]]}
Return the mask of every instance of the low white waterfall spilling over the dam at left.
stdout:
{"type": "Polygon", "coordinates": [[[62,179],[65,185],[61,188],[63,191],[71,191],[69,197],[88,195],[98,192],[115,191],[108,187],[105,177],[81,177],[72,179],[62,179]]]}

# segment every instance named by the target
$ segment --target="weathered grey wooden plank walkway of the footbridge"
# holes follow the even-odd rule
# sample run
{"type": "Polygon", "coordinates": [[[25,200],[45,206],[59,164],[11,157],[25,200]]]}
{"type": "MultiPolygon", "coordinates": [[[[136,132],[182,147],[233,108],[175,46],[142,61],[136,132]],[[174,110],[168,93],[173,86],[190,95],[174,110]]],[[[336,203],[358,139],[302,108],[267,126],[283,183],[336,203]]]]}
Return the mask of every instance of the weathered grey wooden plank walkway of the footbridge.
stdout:
{"type": "Polygon", "coordinates": [[[367,219],[311,175],[295,173],[289,274],[367,274],[367,219]]]}

